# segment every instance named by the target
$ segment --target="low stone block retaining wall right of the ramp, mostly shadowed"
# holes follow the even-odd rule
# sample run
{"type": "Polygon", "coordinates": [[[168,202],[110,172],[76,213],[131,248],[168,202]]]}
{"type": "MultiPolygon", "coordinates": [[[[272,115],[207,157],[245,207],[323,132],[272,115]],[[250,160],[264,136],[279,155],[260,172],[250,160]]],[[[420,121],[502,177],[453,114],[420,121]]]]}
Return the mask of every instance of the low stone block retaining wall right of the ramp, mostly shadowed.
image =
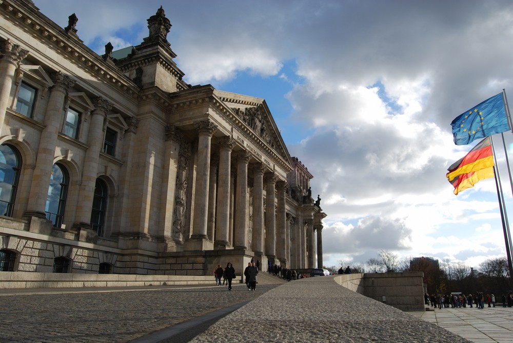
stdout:
{"type": "Polygon", "coordinates": [[[341,286],[402,311],[425,311],[424,273],[342,274],[341,286]]]}

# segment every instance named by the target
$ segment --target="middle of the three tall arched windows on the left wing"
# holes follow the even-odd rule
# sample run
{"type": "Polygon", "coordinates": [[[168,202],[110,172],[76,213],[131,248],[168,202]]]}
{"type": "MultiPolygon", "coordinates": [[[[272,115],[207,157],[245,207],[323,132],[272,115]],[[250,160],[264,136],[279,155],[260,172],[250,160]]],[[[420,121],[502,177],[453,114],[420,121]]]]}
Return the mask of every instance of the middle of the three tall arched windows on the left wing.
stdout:
{"type": "Polygon", "coordinates": [[[50,187],[46,197],[46,218],[51,220],[54,227],[60,228],[63,224],[66,195],[68,194],[69,176],[66,168],[54,164],[50,177],[50,187]]]}

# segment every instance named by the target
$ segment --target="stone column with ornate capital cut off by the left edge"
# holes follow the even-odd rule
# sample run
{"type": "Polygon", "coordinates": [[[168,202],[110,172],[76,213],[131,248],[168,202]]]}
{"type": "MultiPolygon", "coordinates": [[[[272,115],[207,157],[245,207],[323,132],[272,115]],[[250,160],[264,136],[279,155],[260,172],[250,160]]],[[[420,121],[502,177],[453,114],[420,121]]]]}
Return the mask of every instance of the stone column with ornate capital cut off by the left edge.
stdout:
{"type": "Polygon", "coordinates": [[[27,57],[28,51],[13,44],[10,39],[4,43],[4,51],[0,58],[0,132],[4,127],[5,111],[9,106],[14,73],[19,63],[27,57]]]}

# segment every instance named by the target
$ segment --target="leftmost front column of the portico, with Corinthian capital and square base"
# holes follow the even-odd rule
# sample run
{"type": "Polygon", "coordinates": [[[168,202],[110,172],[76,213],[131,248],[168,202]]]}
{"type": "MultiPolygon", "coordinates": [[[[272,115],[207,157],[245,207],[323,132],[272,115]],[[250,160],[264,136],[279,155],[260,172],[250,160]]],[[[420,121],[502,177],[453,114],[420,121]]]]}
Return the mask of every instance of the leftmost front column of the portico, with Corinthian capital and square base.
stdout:
{"type": "Polygon", "coordinates": [[[208,190],[210,179],[211,138],[217,126],[210,120],[194,122],[198,130],[198,165],[196,166],[196,187],[194,189],[194,217],[192,234],[186,242],[186,250],[206,250],[204,240],[207,236],[208,190]],[[198,244],[194,244],[194,242],[198,244]]]}

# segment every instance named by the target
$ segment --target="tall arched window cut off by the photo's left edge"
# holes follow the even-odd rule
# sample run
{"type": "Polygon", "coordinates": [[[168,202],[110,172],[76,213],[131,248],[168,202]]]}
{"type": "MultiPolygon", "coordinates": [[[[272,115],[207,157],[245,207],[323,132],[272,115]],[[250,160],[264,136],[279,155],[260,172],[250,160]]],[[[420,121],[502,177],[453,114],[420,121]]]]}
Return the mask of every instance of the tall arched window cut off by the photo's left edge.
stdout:
{"type": "Polygon", "coordinates": [[[21,160],[14,147],[0,146],[0,215],[12,216],[21,160]]]}

